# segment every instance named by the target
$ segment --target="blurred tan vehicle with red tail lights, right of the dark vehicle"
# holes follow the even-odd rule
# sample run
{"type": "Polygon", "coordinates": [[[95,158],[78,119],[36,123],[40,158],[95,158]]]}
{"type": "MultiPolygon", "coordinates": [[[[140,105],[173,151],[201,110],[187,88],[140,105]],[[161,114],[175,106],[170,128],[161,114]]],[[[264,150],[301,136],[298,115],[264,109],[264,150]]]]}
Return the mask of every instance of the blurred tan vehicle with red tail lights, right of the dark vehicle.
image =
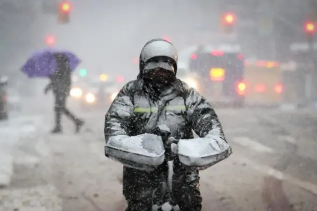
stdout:
{"type": "Polygon", "coordinates": [[[279,62],[248,60],[245,62],[245,102],[255,106],[278,106],[284,86],[279,62]]]}

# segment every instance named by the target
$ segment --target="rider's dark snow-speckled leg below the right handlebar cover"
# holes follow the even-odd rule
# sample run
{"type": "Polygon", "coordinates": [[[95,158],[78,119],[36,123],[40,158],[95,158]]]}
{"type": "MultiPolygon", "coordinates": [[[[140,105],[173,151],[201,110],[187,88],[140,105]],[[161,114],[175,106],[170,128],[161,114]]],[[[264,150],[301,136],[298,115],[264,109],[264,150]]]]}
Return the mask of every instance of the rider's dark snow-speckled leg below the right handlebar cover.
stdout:
{"type": "Polygon", "coordinates": [[[178,172],[174,175],[173,196],[181,211],[201,211],[198,171],[178,172]]]}

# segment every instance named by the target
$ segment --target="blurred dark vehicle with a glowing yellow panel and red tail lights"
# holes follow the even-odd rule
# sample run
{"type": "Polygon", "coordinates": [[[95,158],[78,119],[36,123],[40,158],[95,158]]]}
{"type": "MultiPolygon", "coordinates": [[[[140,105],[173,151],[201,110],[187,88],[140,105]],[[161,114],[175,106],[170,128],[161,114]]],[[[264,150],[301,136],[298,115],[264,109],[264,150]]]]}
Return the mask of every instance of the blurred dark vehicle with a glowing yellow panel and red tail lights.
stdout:
{"type": "Polygon", "coordinates": [[[198,47],[189,57],[199,92],[213,105],[242,107],[245,103],[244,58],[238,46],[198,47]]]}

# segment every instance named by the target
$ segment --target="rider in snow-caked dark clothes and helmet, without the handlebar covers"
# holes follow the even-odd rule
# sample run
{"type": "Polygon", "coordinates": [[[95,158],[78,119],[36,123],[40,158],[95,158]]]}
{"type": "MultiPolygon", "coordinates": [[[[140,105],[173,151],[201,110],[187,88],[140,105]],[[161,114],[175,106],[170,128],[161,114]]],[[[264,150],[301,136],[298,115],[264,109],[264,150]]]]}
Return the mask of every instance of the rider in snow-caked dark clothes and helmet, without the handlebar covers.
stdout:
{"type": "MultiPolygon", "coordinates": [[[[145,44],[140,54],[140,73],[136,80],[123,86],[105,117],[105,138],[118,135],[136,136],[153,133],[160,124],[169,127],[175,139],[215,135],[225,140],[218,117],[194,88],[176,78],[178,54],[165,40],[145,44]]],[[[166,165],[163,163],[162,165],[166,165]]],[[[126,211],[149,211],[152,193],[158,187],[164,167],[151,172],[123,167],[123,195],[126,211]]],[[[182,211],[201,211],[202,196],[197,170],[174,164],[173,196],[182,211]]]]}

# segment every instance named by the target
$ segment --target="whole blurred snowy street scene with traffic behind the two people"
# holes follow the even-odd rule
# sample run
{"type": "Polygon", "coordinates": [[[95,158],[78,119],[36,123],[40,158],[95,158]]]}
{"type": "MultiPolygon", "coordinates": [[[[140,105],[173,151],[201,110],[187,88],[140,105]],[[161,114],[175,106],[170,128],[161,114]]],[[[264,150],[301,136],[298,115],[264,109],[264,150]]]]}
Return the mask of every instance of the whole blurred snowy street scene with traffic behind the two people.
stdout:
{"type": "Polygon", "coordinates": [[[104,116],[153,38],[176,46],[178,76],[215,107],[235,103],[216,108],[234,155],[202,172],[205,211],[317,211],[316,27],[317,0],[0,0],[0,211],[124,210],[104,116]],[[49,134],[49,80],[21,71],[48,47],[82,60],[69,104],[79,135],[67,121],[49,134]]]}

